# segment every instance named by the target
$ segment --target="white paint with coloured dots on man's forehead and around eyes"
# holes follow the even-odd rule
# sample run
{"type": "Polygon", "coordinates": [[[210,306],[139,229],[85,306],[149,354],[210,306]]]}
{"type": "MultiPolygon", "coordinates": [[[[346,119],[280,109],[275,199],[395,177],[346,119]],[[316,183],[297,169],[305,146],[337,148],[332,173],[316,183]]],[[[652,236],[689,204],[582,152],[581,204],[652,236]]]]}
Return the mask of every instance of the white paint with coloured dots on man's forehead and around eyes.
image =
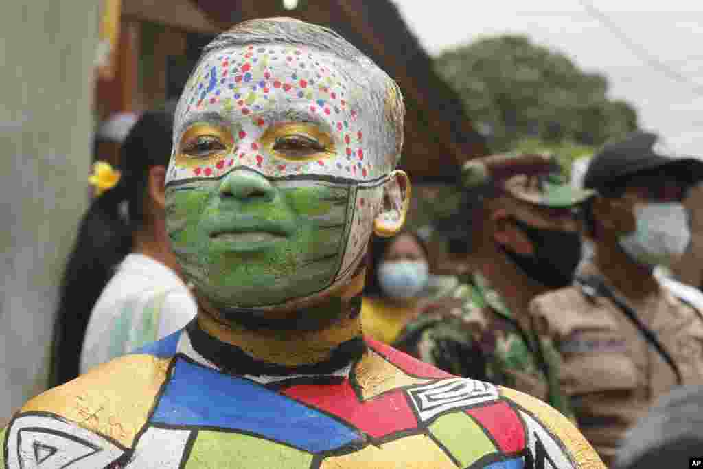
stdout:
{"type": "Polygon", "coordinates": [[[370,181],[387,174],[393,169],[389,155],[367,138],[378,132],[378,116],[365,115],[365,92],[348,79],[350,67],[331,54],[302,47],[250,45],[212,53],[181,96],[174,152],[184,127],[197,125],[194,118],[206,113],[221,117],[219,125],[224,122],[231,132],[231,148],[202,164],[172,158],[167,182],[215,178],[242,166],[269,177],[313,174],[370,181]],[[285,121],[316,122],[330,135],[333,150],[309,160],[280,158],[261,138],[285,121]],[[377,128],[368,132],[369,127],[377,128]]]}

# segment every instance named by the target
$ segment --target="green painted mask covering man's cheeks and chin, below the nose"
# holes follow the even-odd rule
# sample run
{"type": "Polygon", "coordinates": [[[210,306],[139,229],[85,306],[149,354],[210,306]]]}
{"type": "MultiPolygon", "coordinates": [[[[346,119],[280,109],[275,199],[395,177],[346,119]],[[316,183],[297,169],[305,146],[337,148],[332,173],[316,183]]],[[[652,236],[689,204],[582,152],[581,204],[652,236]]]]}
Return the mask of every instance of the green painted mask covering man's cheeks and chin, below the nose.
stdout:
{"type": "Polygon", "coordinates": [[[166,193],[172,248],[202,294],[219,307],[260,307],[330,285],[347,238],[348,186],[279,181],[269,197],[235,198],[222,197],[220,184],[199,181],[166,193]],[[258,233],[212,236],[240,230],[258,233]]]}

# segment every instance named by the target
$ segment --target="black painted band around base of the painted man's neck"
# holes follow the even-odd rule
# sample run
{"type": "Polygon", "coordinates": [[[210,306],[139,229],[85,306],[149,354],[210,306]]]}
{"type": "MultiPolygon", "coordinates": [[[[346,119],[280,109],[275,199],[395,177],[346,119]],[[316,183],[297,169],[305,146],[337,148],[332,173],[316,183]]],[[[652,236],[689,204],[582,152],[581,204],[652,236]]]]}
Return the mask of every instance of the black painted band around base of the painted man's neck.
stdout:
{"type": "Polygon", "coordinates": [[[188,323],[186,330],[188,330],[191,345],[196,352],[225,373],[236,375],[324,375],[359,361],[366,352],[366,342],[359,336],[340,343],[332,350],[330,358],[326,360],[314,364],[285,366],[271,361],[254,359],[239,347],[217,340],[200,328],[197,319],[188,323]]]}

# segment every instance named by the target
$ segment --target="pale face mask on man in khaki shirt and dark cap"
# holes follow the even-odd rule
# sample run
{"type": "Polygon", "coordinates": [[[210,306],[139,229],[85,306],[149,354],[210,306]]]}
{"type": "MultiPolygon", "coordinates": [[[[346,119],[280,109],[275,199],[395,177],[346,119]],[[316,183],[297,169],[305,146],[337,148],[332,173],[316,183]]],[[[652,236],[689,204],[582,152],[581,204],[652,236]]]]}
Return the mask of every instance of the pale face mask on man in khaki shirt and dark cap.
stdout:
{"type": "Polygon", "coordinates": [[[618,240],[640,264],[669,265],[683,255],[691,240],[688,211],[681,203],[636,206],[637,228],[618,240]]]}

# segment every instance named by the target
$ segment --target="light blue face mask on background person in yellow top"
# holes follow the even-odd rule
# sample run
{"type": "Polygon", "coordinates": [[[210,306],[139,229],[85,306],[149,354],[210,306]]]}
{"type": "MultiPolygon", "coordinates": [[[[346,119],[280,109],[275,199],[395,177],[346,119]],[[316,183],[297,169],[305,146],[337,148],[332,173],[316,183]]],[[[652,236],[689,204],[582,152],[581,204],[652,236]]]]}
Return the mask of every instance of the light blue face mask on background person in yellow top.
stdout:
{"type": "Polygon", "coordinates": [[[425,261],[386,261],[378,266],[378,283],[392,298],[411,298],[422,292],[430,278],[425,261]]]}

